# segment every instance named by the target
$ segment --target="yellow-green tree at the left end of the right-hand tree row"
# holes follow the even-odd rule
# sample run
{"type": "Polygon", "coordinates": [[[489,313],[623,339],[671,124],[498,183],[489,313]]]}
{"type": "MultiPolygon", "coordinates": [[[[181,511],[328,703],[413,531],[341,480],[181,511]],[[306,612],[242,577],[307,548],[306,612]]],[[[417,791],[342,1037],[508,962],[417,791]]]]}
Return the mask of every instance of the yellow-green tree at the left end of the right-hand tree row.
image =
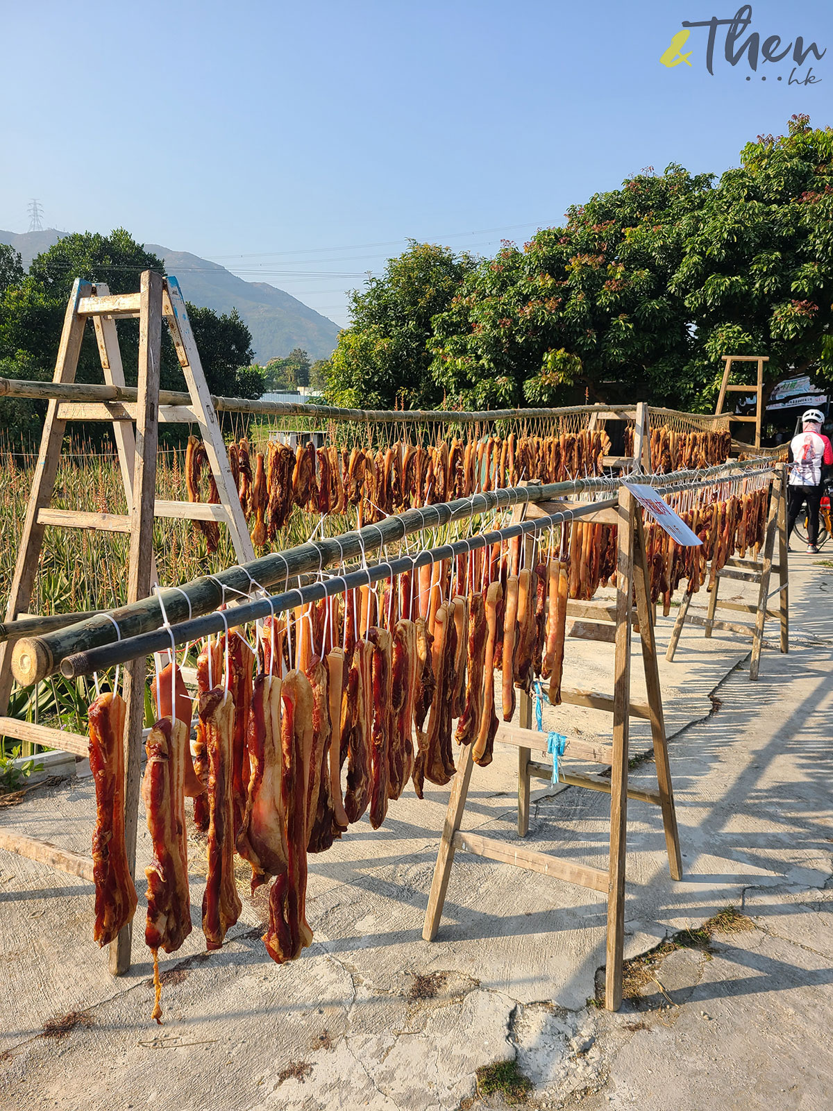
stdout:
{"type": "Polygon", "coordinates": [[[431,377],[431,321],[444,311],[475,267],[472,256],[410,241],[389,259],[382,278],[350,296],[352,323],[339,334],[325,397],[360,409],[430,407],[443,388],[431,377]]]}

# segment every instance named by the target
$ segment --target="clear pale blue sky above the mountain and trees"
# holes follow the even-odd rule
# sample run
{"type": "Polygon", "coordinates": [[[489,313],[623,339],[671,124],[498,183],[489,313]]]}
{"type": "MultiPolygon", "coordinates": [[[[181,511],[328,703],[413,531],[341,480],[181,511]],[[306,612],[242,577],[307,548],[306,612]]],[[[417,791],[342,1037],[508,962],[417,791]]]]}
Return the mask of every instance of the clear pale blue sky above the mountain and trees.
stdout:
{"type": "Polygon", "coordinates": [[[0,227],[37,197],[50,226],[122,224],[343,324],[409,237],[492,253],[645,166],[721,171],[793,112],[833,123],[831,0],[752,3],[762,42],[827,48],[817,84],[731,67],[724,29],[713,77],[704,29],[660,63],[683,20],[740,7],[0,0],[0,227]]]}

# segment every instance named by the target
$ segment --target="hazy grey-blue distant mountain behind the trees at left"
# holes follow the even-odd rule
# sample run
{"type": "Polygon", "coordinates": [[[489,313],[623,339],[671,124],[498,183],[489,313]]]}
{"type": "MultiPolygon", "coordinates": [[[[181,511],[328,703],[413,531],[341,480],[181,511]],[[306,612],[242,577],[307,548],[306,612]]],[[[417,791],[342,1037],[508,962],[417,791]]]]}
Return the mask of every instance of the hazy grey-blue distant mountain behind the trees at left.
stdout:
{"type": "MultiPolygon", "coordinates": [[[[0,243],[10,243],[20,251],[28,267],[36,254],[66,234],[54,228],[22,233],[0,231],[0,243]]],[[[187,251],[172,251],[159,243],[144,247],[164,261],[168,273],[175,274],[188,301],[214,312],[238,310],[252,333],[259,363],[283,359],[297,347],[303,348],[312,360],[327,359],[332,353],[339,326],[282,289],[268,282],[243,281],[225,267],[187,251]]]]}

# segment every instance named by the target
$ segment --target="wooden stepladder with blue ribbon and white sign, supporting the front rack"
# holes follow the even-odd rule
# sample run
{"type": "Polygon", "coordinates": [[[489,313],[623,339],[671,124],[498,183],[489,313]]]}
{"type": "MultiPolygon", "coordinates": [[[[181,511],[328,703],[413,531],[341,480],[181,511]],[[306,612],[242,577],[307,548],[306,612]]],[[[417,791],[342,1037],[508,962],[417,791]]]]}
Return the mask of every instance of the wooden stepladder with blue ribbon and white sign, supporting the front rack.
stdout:
{"type": "MultiPolygon", "coordinates": [[[[539,504],[533,509],[543,514],[553,512],[553,506],[539,504]]],[[[490,860],[514,864],[529,871],[554,875],[570,883],[606,893],[608,895],[608,942],[605,967],[605,1007],[618,1010],[622,1003],[622,954],[624,947],[624,898],[625,898],[625,839],[628,830],[628,799],[641,799],[661,808],[665,832],[665,847],[673,879],[682,879],[680,840],[674,811],[671,770],[665,740],[665,724],[660,693],[660,677],[656,660],[656,644],[651,620],[650,579],[645,557],[645,541],[642,527],[642,510],[626,487],[620,488],[619,506],[601,510],[599,514],[582,517],[583,521],[603,521],[619,526],[619,556],[615,605],[615,662],[613,695],[592,691],[562,690],[562,701],[580,705],[591,705],[606,710],[613,715],[612,743],[589,742],[584,738],[569,737],[564,747],[565,757],[595,761],[611,768],[610,779],[602,775],[571,774],[559,770],[559,781],[573,783],[590,790],[603,791],[611,795],[610,858],[606,870],[562,860],[549,853],[510,844],[495,838],[466,833],[461,830],[469,783],[473,768],[471,747],[460,752],[458,772],[452,783],[451,798],[445,814],[440,848],[436,855],[433,882],[429,895],[422,937],[433,941],[436,937],[445,902],[454,852],[464,849],[490,860]],[[648,702],[631,702],[631,629],[634,623],[633,602],[636,599],[635,619],[642,641],[642,658],[645,668],[648,702]],[[628,745],[631,717],[643,717],[651,722],[651,733],[656,762],[658,788],[630,788],[628,784],[628,745]]],[[[569,611],[568,611],[569,612],[569,611]]],[[[604,635],[605,640],[609,637],[604,635]]],[[[522,703],[522,717],[529,705],[522,703]]],[[[529,721],[526,722],[529,724],[529,721]]],[[[496,739],[519,749],[519,833],[525,835],[529,828],[530,775],[549,779],[550,767],[531,759],[532,753],[545,754],[546,733],[536,732],[526,725],[502,724],[496,739]]]]}

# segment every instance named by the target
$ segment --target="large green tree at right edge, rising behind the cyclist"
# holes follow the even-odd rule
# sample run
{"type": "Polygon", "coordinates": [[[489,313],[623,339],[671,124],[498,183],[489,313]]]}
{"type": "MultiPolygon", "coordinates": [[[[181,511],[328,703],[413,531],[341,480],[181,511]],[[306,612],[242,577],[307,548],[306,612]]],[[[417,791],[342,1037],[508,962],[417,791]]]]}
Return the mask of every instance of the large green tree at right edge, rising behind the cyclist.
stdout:
{"type": "Polygon", "coordinates": [[[769,356],[767,392],[785,372],[833,384],[833,129],[793,116],[786,136],[759,136],[681,231],[669,289],[694,324],[703,406],[723,354],[769,356]]]}

